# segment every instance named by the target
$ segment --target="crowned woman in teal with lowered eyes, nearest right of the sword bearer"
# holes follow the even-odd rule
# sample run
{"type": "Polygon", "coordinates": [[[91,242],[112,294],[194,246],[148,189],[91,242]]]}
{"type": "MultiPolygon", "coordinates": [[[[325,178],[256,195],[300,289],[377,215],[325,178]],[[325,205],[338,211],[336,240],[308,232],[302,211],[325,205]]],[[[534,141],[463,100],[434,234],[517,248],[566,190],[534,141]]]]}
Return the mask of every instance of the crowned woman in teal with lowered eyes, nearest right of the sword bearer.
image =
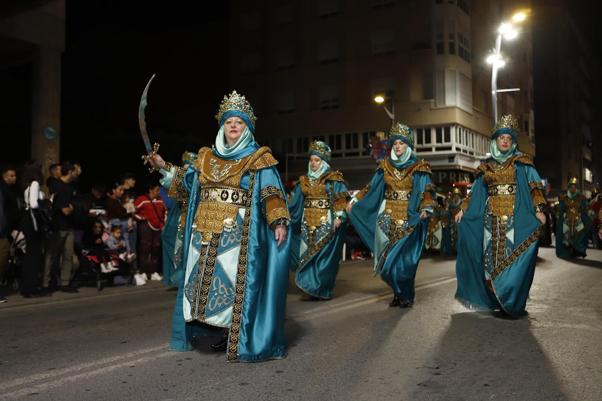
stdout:
{"type": "Polygon", "coordinates": [[[349,192],[343,174],[331,171],[329,163],[329,146],[313,141],[308,172],[299,177],[288,205],[293,223],[290,268],[297,286],[313,300],[332,299],[347,232],[349,192]]]}

